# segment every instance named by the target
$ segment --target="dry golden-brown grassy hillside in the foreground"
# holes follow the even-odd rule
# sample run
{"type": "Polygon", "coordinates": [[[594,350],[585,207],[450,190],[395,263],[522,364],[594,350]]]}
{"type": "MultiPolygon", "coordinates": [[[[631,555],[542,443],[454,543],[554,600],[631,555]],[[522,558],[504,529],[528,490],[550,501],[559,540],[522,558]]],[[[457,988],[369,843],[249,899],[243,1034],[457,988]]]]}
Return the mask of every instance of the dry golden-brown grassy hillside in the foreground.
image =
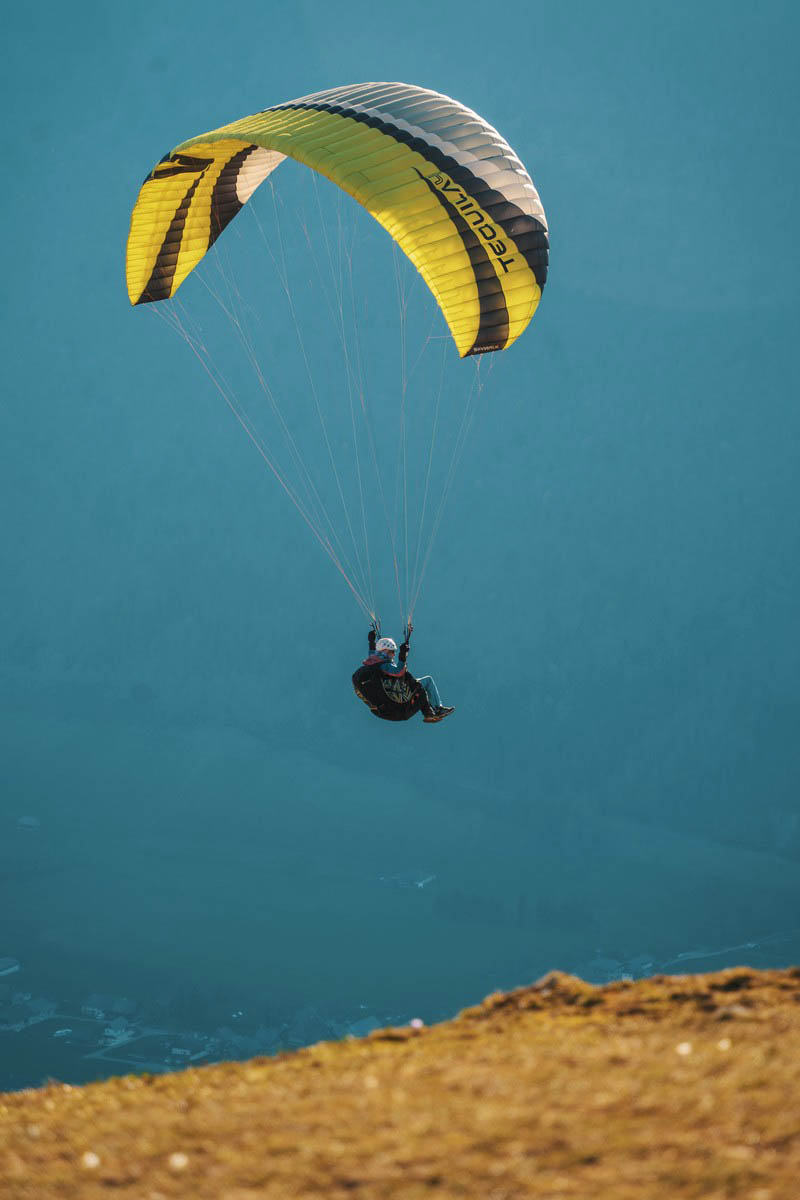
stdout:
{"type": "Polygon", "coordinates": [[[0,1096],[4,1200],[798,1200],[800,968],[551,974],[431,1028],[0,1096]]]}

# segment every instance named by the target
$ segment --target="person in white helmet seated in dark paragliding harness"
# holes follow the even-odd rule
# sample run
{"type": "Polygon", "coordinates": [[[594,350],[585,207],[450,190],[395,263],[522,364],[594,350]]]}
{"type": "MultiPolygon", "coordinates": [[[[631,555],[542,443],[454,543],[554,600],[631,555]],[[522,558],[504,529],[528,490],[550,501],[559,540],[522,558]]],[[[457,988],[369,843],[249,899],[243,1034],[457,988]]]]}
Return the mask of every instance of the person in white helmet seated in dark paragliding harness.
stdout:
{"type": "Polygon", "coordinates": [[[353,676],[353,686],[356,696],[385,721],[408,721],[422,713],[422,720],[432,725],[450,716],[455,709],[441,703],[431,676],[415,679],[408,671],[405,661],[413,628],[409,623],[398,650],[393,638],[380,637],[380,623],[373,622],[368,635],[369,655],[353,676]]]}

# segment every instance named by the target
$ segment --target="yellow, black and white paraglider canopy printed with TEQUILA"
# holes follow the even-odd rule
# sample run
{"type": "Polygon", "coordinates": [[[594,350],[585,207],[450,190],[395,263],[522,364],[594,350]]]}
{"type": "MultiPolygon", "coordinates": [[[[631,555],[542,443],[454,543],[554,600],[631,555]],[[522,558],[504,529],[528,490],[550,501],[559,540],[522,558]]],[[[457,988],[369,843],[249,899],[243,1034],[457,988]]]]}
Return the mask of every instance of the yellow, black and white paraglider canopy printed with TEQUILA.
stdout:
{"type": "Polygon", "coordinates": [[[476,113],[399,83],[317,92],[176,146],[133,209],[131,302],[174,295],[287,156],[384,226],[433,292],[462,356],[519,337],[547,277],[547,222],[530,176],[476,113]]]}

